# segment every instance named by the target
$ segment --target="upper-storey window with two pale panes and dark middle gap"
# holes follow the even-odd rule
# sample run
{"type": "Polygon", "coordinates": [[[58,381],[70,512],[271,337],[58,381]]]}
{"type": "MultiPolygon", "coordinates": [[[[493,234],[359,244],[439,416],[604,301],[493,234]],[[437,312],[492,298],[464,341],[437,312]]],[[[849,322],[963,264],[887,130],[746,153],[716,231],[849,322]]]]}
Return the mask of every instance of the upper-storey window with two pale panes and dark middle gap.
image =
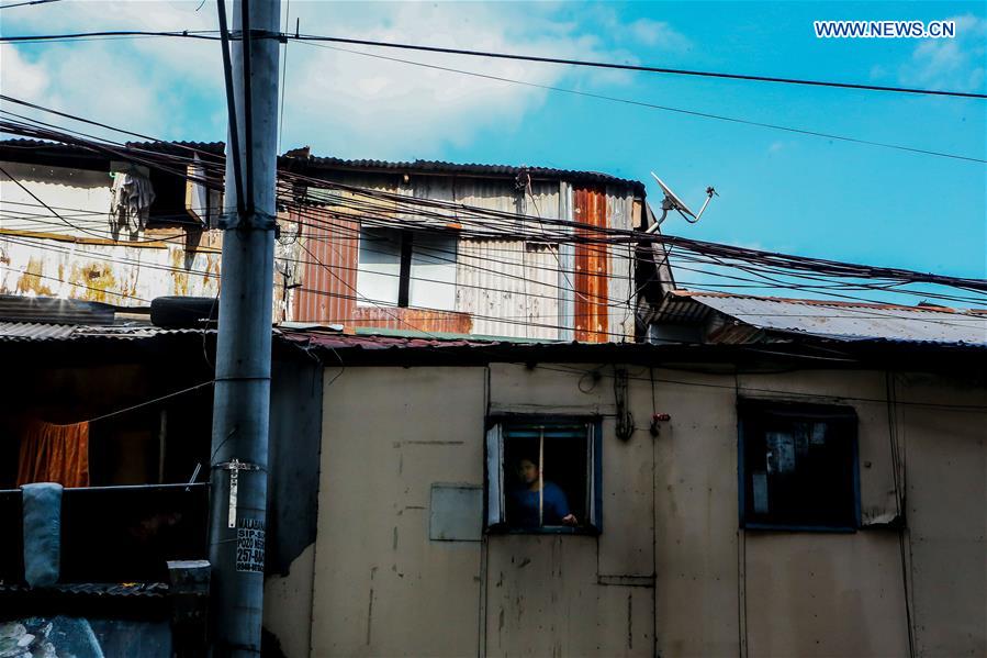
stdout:
{"type": "Polygon", "coordinates": [[[358,303],[456,308],[457,236],[360,228],[358,303]]]}

